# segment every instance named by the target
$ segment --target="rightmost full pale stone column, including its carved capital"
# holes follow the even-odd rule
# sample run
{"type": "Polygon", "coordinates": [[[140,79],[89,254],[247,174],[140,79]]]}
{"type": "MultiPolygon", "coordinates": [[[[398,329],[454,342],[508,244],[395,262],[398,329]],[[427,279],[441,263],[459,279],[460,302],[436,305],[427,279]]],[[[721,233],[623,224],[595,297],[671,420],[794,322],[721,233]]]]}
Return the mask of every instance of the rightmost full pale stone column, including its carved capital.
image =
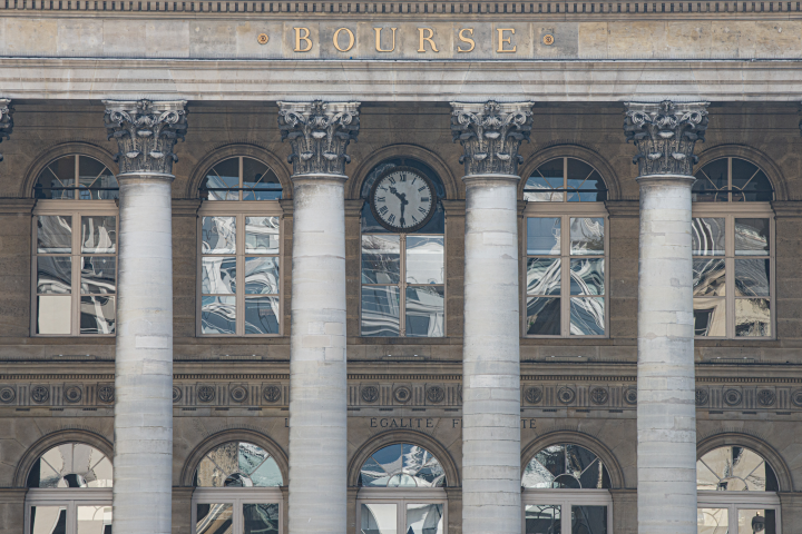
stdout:
{"type": "Polygon", "coordinates": [[[638,154],[638,533],[696,534],[691,187],[707,102],[627,102],[638,154]]]}

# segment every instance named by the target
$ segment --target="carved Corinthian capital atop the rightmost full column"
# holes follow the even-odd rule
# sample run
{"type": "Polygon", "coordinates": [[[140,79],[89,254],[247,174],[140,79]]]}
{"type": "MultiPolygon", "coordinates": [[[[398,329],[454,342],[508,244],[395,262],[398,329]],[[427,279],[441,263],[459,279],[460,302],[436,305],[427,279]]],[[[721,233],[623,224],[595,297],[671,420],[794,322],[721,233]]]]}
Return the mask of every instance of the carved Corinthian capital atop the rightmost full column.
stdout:
{"type": "Polygon", "coordinates": [[[693,154],[696,141],[704,141],[710,102],[659,103],[624,102],[627,142],[638,149],[633,164],[640,176],[693,175],[698,157],[693,154]]]}

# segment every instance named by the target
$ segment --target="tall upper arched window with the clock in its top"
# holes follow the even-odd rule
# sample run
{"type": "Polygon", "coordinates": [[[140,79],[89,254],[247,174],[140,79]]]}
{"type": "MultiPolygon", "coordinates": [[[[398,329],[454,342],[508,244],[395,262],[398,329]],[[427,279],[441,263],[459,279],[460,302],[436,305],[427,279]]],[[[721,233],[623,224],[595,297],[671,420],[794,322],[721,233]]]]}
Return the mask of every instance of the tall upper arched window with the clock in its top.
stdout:
{"type": "Polygon", "coordinates": [[[361,335],[446,335],[446,188],[426,164],[375,166],[362,184],[361,335]]]}

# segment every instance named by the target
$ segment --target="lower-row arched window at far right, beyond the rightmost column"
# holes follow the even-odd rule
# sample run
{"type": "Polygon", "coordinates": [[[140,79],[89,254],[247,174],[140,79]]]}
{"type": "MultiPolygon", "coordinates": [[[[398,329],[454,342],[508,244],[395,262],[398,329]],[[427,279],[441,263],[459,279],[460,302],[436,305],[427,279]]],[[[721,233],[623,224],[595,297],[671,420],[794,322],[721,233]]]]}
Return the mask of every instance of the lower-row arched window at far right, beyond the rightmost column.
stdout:
{"type": "Polygon", "coordinates": [[[779,534],[774,469],[745,447],[715,448],[696,462],[698,534],[779,534]]]}

